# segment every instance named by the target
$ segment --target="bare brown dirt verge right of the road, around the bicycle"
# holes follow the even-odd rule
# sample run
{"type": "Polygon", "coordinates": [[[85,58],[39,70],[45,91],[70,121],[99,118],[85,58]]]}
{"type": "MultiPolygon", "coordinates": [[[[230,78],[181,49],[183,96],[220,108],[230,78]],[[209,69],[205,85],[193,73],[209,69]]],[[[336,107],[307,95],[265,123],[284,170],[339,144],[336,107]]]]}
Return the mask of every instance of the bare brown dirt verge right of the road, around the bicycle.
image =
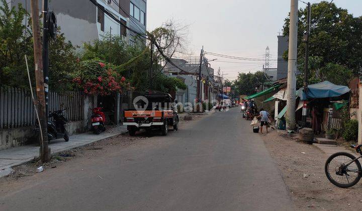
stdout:
{"type": "Polygon", "coordinates": [[[301,210],[361,210],[362,182],[343,189],[329,182],[324,173],[328,158],[313,145],[283,138],[276,131],[263,136],[276,160],[293,201],[301,210]]]}

